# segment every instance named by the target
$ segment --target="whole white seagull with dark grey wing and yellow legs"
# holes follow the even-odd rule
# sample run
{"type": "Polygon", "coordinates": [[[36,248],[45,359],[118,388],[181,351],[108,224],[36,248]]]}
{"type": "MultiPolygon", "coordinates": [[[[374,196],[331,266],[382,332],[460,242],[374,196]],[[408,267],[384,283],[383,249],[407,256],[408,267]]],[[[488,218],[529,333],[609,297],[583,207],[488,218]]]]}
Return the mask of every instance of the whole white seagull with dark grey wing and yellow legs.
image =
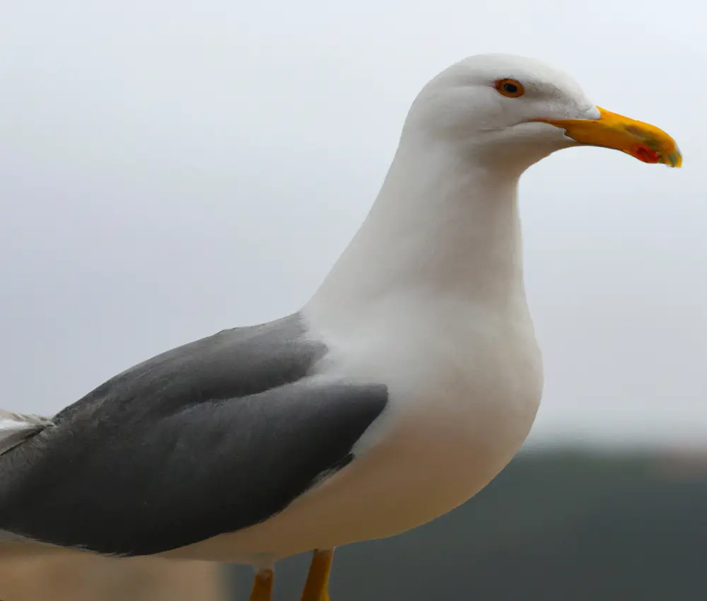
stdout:
{"type": "Polygon", "coordinates": [[[255,569],[438,518],[508,465],[542,396],[520,175],[572,146],[682,164],[674,140],[525,57],[481,54],[411,105],[361,228],[310,300],[119,373],[51,417],[0,414],[0,557],[255,569]]]}

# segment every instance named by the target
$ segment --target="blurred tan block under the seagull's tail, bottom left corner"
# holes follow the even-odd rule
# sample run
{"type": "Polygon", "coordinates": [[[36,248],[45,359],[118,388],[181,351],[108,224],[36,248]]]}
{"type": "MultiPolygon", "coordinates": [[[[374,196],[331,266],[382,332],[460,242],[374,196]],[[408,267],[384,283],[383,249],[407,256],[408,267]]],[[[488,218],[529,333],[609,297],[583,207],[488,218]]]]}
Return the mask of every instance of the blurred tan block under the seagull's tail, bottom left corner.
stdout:
{"type": "Polygon", "coordinates": [[[218,564],[88,555],[3,559],[1,601],[224,601],[218,564]]]}

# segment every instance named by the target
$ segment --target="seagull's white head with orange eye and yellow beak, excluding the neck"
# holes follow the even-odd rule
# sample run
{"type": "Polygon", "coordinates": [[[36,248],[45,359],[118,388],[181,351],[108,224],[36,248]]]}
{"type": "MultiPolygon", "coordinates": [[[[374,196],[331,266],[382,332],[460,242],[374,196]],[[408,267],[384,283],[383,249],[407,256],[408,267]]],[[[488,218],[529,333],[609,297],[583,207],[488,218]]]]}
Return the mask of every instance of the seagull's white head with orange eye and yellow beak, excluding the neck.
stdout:
{"type": "Polygon", "coordinates": [[[414,101],[403,136],[458,144],[475,161],[520,170],[580,144],[647,163],[682,163],[665,132],[597,107],[563,71],[508,54],[468,57],[433,78],[414,101]]]}

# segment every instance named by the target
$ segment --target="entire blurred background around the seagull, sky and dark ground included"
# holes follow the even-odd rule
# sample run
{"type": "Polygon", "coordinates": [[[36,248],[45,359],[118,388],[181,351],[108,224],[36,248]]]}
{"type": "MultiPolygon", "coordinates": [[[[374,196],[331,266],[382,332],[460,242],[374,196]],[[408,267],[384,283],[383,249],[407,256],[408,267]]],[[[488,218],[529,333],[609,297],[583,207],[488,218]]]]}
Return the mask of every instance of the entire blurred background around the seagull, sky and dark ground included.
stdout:
{"type": "MultiPolygon", "coordinates": [[[[296,310],[421,86],[469,54],[537,57],[672,134],[684,168],[577,148],[524,175],[533,433],[458,510],[340,549],[332,600],[703,601],[707,7],[480,4],[4,0],[1,405],[51,414],[160,351],[296,310]]],[[[306,559],[279,566],[278,601],[306,559]]],[[[5,564],[0,599],[250,588],[246,568],[105,561],[5,564]]]]}

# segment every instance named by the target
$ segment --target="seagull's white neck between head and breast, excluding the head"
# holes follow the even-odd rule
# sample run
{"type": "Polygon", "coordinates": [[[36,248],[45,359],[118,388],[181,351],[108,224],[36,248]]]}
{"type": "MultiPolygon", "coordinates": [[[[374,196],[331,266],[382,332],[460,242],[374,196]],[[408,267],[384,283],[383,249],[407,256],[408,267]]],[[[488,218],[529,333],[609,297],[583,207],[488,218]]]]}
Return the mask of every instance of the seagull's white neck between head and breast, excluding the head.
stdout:
{"type": "Polygon", "coordinates": [[[366,221],[310,301],[352,315],[391,293],[525,305],[520,170],[404,135],[366,221]]]}

